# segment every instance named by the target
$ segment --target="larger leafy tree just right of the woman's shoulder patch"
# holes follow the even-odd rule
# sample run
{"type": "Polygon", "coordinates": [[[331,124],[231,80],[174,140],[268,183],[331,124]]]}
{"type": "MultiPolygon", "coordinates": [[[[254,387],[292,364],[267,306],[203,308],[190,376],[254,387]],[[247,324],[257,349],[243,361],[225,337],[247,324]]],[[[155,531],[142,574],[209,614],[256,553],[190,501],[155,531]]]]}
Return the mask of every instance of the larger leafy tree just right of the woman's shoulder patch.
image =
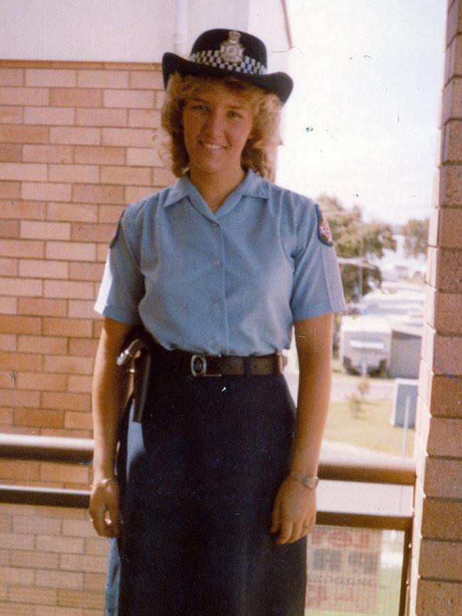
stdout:
{"type": "MultiPolygon", "coordinates": [[[[385,248],[396,250],[396,241],[392,236],[390,225],[380,222],[365,223],[362,221],[360,206],[346,209],[343,203],[335,197],[321,194],[318,197],[321,210],[328,218],[335,250],[339,257],[361,260],[365,265],[371,257],[383,257],[385,248]]],[[[377,266],[361,266],[353,263],[340,265],[345,299],[360,299],[362,294],[372,290],[372,285],[380,285],[382,275],[377,266]]]]}

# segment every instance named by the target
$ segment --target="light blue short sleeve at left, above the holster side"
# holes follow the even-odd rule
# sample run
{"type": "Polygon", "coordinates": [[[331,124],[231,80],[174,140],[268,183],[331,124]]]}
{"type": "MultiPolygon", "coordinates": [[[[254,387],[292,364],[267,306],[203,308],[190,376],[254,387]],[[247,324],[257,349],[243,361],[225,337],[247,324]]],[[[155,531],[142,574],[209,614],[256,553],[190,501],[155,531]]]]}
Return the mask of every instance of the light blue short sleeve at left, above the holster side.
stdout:
{"type": "Polygon", "coordinates": [[[95,311],[122,323],[139,322],[138,304],[144,295],[139,262],[124,228],[122,214],[109,245],[95,311]]]}

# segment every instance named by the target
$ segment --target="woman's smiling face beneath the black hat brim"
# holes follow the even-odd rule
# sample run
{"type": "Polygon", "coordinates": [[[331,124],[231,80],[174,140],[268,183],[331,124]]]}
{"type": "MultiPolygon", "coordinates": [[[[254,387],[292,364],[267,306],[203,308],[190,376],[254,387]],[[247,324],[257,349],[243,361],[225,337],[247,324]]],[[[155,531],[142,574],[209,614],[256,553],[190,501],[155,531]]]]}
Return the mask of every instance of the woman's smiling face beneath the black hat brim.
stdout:
{"type": "Polygon", "coordinates": [[[251,132],[252,107],[245,95],[221,83],[199,87],[183,110],[183,137],[192,176],[241,173],[241,154],[251,132]]]}

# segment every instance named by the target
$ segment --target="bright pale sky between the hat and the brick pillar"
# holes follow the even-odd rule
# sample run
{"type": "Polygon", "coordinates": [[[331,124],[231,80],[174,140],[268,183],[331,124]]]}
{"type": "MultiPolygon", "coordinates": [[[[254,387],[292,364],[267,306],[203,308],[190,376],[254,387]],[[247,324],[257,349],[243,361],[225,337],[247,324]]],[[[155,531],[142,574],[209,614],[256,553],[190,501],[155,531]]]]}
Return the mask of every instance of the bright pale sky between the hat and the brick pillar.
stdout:
{"type": "Polygon", "coordinates": [[[294,92],[276,181],[362,206],[365,220],[429,216],[439,149],[444,0],[286,0],[294,92]]]}

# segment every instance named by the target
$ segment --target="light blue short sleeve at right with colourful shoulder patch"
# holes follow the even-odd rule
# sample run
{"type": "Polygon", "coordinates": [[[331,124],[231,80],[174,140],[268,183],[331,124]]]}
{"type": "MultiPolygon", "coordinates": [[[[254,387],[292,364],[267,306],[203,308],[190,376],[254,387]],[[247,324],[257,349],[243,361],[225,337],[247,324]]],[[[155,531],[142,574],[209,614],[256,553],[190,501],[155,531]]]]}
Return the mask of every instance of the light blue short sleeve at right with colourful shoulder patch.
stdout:
{"type": "Polygon", "coordinates": [[[331,230],[313,201],[303,204],[297,225],[291,311],[294,321],[343,312],[342,280],[331,230]]]}

